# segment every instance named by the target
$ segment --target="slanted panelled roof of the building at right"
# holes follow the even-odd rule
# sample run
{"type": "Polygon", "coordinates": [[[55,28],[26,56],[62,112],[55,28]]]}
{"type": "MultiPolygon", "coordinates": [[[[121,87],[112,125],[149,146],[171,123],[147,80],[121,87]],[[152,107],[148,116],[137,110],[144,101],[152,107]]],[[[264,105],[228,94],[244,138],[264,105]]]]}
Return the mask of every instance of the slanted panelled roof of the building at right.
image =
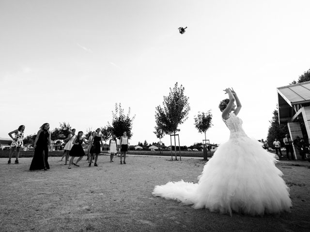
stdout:
{"type": "Polygon", "coordinates": [[[279,122],[288,122],[296,114],[299,107],[310,102],[310,81],[278,87],[277,92],[279,122]]]}

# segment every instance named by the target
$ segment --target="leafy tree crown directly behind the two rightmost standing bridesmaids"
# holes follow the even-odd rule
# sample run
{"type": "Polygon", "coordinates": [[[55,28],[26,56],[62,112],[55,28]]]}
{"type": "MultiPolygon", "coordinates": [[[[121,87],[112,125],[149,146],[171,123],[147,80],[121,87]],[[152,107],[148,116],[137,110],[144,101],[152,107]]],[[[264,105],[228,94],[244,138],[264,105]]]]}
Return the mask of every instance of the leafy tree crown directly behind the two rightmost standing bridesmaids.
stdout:
{"type": "Polygon", "coordinates": [[[112,123],[108,122],[109,132],[115,134],[117,138],[120,138],[124,131],[127,132],[127,136],[130,139],[132,136],[131,129],[135,116],[130,117],[130,107],[128,109],[127,115],[124,114],[121,103],[117,105],[115,103],[115,112],[112,111],[112,123]]]}

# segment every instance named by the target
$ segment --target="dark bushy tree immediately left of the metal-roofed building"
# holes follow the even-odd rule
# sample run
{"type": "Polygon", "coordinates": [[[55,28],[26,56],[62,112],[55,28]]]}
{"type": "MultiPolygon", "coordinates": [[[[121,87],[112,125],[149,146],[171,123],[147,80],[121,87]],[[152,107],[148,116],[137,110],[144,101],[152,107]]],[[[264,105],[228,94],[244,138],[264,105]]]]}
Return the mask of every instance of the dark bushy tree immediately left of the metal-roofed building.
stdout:
{"type": "Polygon", "coordinates": [[[288,127],[287,124],[279,124],[279,114],[278,109],[274,110],[272,119],[269,121],[270,127],[268,129],[268,135],[267,135],[267,144],[269,147],[273,147],[273,141],[277,138],[281,145],[283,146],[283,138],[285,137],[285,134],[288,133],[288,127]]]}

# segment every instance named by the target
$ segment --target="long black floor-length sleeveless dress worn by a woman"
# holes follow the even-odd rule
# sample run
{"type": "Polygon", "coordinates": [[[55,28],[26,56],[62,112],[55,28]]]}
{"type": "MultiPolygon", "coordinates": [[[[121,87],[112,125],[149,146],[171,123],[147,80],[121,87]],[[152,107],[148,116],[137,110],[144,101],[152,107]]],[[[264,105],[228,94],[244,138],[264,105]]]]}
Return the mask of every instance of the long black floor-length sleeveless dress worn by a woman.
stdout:
{"type": "Polygon", "coordinates": [[[49,169],[48,165],[48,132],[42,131],[39,135],[38,141],[36,143],[36,147],[34,148],[34,155],[31,161],[31,165],[29,170],[40,170],[44,169],[44,162],[47,169],[49,169]],[[44,154],[43,154],[44,151],[44,154]]]}

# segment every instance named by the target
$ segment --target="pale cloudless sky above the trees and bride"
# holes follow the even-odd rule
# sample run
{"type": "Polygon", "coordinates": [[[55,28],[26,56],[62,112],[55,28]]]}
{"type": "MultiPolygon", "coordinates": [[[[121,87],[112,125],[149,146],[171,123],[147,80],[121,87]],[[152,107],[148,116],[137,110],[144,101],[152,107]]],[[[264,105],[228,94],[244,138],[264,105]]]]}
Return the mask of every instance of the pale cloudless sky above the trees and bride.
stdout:
{"type": "Polygon", "coordinates": [[[308,0],[0,0],[0,137],[45,122],[95,130],[121,103],[135,116],[130,145],[157,142],[155,107],[178,82],[191,108],[181,145],[202,142],[194,117],[208,110],[207,139],[228,140],[226,87],[246,133],[266,139],[277,87],[310,69],[309,10],[308,0]]]}

